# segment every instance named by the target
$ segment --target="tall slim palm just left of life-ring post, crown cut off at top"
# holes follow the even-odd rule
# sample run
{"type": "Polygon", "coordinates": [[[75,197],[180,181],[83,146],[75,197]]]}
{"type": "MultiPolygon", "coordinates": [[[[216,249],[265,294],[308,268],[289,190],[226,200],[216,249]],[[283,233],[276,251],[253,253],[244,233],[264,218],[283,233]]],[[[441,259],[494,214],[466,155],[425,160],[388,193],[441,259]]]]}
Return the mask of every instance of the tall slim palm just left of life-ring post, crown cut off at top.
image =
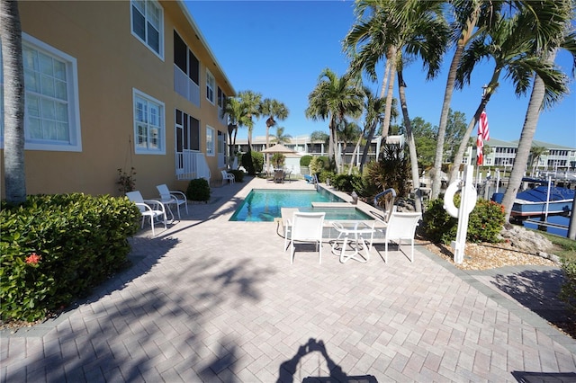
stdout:
{"type": "Polygon", "coordinates": [[[444,102],[442,103],[442,112],[440,113],[440,125],[438,126],[436,156],[434,159],[434,168],[432,170],[432,190],[430,199],[437,199],[440,193],[441,170],[446,140],[446,127],[448,116],[450,114],[450,103],[455,88],[456,72],[460,60],[464,53],[464,48],[469,43],[482,36],[482,31],[490,26],[493,21],[492,15],[500,8],[501,2],[486,2],[483,0],[453,0],[448,2],[454,7],[454,21],[452,30],[455,44],[455,52],[450,63],[450,69],[446,79],[446,89],[444,102]]]}

